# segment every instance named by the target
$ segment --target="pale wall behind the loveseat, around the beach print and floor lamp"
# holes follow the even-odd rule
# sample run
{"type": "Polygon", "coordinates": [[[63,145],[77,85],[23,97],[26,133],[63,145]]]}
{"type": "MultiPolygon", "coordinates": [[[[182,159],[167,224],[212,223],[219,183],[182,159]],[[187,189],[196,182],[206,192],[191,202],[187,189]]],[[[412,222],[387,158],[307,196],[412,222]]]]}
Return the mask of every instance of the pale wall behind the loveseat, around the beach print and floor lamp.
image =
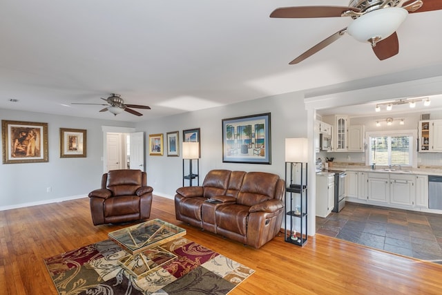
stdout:
{"type": "MultiPolygon", "coordinates": [[[[137,131],[144,131],[146,137],[163,133],[165,149],[166,133],[180,131],[180,157],[167,157],[166,150],[162,156],[147,153],[148,184],[155,194],[166,198],[175,196],[176,189],[182,187],[182,131],[195,128],[201,129],[200,184],[211,169],[264,171],[285,178],[285,138],[307,137],[303,99],[301,94],[289,93],[138,123],[137,131]],[[260,113],[271,113],[271,164],[223,163],[222,119],[260,113]]],[[[189,165],[188,160],[185,165],[189,165]]]]}

